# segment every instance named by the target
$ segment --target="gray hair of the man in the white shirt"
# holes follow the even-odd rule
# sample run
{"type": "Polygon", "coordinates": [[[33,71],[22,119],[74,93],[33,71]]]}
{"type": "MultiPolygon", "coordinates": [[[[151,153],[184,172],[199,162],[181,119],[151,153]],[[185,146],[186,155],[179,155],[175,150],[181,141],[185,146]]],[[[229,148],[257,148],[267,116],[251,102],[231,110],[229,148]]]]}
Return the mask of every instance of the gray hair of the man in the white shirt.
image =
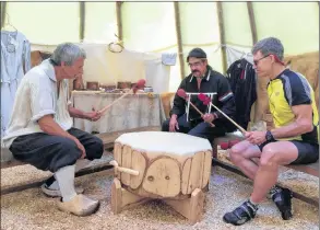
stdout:
{"type": "Polygon", "coordinates": [[[67,66],[72,66],[79,58],[86,58],[85,50],[72,43],[58,45],[51,56],[51,60],[58,66],[61,66],[61,61],[64,61],[67,66]]]}

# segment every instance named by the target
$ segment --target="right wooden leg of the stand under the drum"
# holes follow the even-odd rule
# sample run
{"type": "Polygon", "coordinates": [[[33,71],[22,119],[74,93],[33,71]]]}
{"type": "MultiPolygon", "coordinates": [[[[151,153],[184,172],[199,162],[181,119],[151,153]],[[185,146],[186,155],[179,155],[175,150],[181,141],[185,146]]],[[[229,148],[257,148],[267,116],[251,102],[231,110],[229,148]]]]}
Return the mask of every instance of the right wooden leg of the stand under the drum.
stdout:
{"type": "Polygon", "coordinates": [[[183,217],[188,218],[191,225],[194,225],[201,220],[204,204],[204,193],[201,189],[195,188],[190,198],[180,200],[164,199],[164,202],[183,217]]]}

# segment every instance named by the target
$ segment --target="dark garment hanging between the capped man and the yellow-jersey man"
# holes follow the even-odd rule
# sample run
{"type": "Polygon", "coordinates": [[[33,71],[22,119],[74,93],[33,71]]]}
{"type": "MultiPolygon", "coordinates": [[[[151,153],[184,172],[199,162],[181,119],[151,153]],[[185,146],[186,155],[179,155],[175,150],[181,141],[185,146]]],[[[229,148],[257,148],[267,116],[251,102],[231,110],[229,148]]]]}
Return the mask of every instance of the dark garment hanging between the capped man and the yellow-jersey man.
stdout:
{"type": "Polygon", "coordinates": [[[247,129],[251,106],[257,100],[256,71],[245,58],[236,60],[227,70],[232,91],[236,101],[235,122],[247,129]]]}

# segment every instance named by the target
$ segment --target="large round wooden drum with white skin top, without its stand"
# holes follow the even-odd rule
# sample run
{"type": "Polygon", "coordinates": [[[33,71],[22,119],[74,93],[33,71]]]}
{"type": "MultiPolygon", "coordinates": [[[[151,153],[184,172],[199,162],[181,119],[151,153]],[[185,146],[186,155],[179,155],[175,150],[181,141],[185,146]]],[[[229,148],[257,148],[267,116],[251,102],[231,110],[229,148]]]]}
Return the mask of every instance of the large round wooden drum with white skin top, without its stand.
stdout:
{"type": "Polygon", "coordinates": [[[115,141],[114,154],[117,179],[139,196],[182,199],[209,184],[212,147],[203,138],[180,133],[129,133],[115,141]]]}

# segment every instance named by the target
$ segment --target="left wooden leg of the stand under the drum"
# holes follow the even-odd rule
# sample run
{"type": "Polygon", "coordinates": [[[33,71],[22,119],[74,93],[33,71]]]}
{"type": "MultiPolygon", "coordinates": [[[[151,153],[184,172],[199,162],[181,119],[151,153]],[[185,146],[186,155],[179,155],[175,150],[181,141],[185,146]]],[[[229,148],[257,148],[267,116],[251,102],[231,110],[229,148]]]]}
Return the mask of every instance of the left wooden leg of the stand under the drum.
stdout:
{"type": "Polygon", "coordinates": [[[121,187],[118,179],[114,179],[111,186],[111,210],[114,214],[119,214],[121,210],[129,207],[134,207],[149,202],[150,198],[138,196],[121,187]]]}

